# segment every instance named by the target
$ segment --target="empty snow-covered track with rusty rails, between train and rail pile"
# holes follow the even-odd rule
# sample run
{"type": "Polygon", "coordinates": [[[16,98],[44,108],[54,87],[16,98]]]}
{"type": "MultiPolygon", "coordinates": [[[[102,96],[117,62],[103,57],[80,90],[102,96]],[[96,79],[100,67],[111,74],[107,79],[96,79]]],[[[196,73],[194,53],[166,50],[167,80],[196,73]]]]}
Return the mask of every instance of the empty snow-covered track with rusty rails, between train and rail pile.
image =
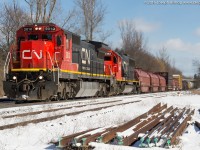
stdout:
{"type": "MultiPolygon", "coordinates": [[[[145,97],[147,97],[147,96],[152,96],[153,97],[153,96],[157,96],[157,94],[145,94],[145,97]]],[[[0,125],[0,130],[9,129],[9,128],[15,128],[17,126],[25,126],[25,125],[27,125],[29,123],[39,123],[39,122],[50,121],[50,120],[54,120],[54,119],[57,119],[57,118],[61,118],[63,116],[76,115],[76,114],[80,114],[80,113],[87,112],[87,111],[96,111],[96,110],[100,110],[100,109],[104,109],[104,108],[108,108],[108,107],[118,106],[118,105],[121,105],[121,104],[114,104],[114,103],[120,103],[122,101],[122,100],[119,100],[120,97],[121,96],[113,97],[113,98],[104,98],[103,101],[102,101],[102,99],[101,99],[101,101],[98,101],[97,99],[95,99],[94,101],[93,100],[88,100],[88,101],[84,101],[84,102],[83,101],[78,101],[78,102],[75,102],[75,103],[74,102],[65,103],[65,104],[67,104],[67,106],[64,103],[62,103],[62,104],[60,104],[62,106],[61,108],[60,107],[59,108],[50,108],[50,109],[48,108],[46,110],[43,110],[44,109],[43,108],[43,109],[41,109],[39,111],[28,112],[28,113],[24,113],[24,112],[16,113],[16,112],[18,112],[18,110],[17,110],[17,111],[14,111],[13,114],[11,113],[11,115],[5,115],[8,112],[6,112],[4,115],[2,115],[3,114],[2,113],[3,111],[2,111],[0,119],[5,120],[4,122],[6,123],[6,122],[10,122],[10,120],[6,121],[6,119],[14,118],[13,119],[14,122],[10,122],[10,124],[2,124],[2,125],[0,125]],[[113,100],[110,101],[110,99],[113,99],[113,100]],[[109,101],[107,101],[107,100],[109,100],[109,101]],[[77,105],[76,105],[76,103],[77,103],[77,105]],[[113,103],[113,104],[110,104],[108,106],[101,106],[101,107],[97,106],[97,107],[94,107],[95,105],[101,105],[101,104],[105,105],[105,104],[109,104],[109,103],[113,103]],[[70,106],[70,104],[72,104],[72,105],[70,106]],[[65,112],[65,111],[67,111],[69,109],[72,109],[72,108],[78,109],[78,108],[83,108],[83,107],[86,107],[86,106],[91,106],[91,107],[94,107],[94,108],[84,109],[84,110],[77,110],[77,111],[74,111],[74,112],[66,112],[66,113],[62,113],[62,114],[58,114],[58,115],[51,115],[51,116],[48,116],[48,117],[41,117],[41,116],[37,117],[38,115],[40,115],[42,113],[46,113],[46,114],[52,113],[52,112],[57,113],[58,111],[65,112]],[[32,116],[32,118],[34,118],[34,119],[32,119],[32,120],[29,119],[28,120],[27,118],[29,116],[32,116]],[[23,117],[26,117],[26,118],[23,119],[23,117]]],[[[124,96],[124,97],[127,98],[127,99],[129,99],[129,97],[130,97],[131,101],[133,101],[132,97],[130,95],[124,96]]],[[[121,98],[123,99],[123,97],[121,97],[121,98]]],[[[124,105],[125,104],[129,104],[129,103],[135,103],[135,102],[139,102],[139,101],[141,101],[141,100],[137,100],[137,101],[133,101],[133,102],[124,102],[124,103],[122,103],[122,105],[123,104],[124,105]]]]}

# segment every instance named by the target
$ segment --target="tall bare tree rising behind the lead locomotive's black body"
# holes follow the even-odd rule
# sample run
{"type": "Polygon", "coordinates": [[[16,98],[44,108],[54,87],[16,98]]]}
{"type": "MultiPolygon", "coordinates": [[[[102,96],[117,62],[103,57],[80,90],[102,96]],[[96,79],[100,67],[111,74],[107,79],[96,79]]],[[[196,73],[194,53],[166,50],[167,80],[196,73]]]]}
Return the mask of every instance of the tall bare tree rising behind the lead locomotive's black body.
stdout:
{"type": "Polygon", "coordinates": [[[106,7],[101,0],[75,0],[75,4],[80,12],[80,33],[86,40],[93,40],[95,33],[102,32],[100,26],[105,18],[106,7]]]}

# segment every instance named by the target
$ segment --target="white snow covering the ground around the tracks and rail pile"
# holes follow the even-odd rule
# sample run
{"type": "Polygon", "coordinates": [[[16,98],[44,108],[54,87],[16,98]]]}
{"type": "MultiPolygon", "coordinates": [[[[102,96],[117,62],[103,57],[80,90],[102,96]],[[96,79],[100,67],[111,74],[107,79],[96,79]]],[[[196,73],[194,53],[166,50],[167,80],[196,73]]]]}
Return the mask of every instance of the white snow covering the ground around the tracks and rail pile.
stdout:
{"type": "MultiPolygon", "coordinates": [[[[195,109],[195,114],[192,118],[193,121],[200,121],[200,95],[191,95],[189,92],[168,92],[168,93],[156,93],[156,94],[145,94],[145,95],[129,95],[120,96],[107,99],[98,99],[95,101],[100,102],[109,100],[123,100],[136,101],[142,100],[138,103],[127,104],[123,106],[115,106],[111,108],[102,109],[95,112],[84,112],[76,116],[63,116],[59,119],[52,121],[47,121],[38,124],[29,124],[24,127],[17,127],[14,129],[0,130],[0,150],[50,150],[55,149],[54,145],[49,144],[51,141],[58,140],[59,137],[80,132],[83,130],[114,126],[127,122],[143,113],[148,111],[154,105],[159,102],[167,103],[168,106],[173,105],[174,107],[187,107],[195,109]],[[164,97],[163,97],[164,96],[164,97]]],[[[87,103],[91,100],[87,101],[87,103]]],[[[38,111],[47,108],[57,108],[73,106],[78,103],[86,102],[72,102],[72,103],[62,103],[62,104],[50,104],[50,105],[36,105],[36,106],[24,106],[20,108],[6,108],[0,109],[0,124],[5,124],[4,119],[1,118],[1,114],[10,115],[17,113],[25,113],[29,111],[38,111]]],[[[87,108],[92,108],[93,106],[88,106],[87,108]]],[[[68,112],[74,111],[68,110],[68,112]]],[[[62,112],[60,112],[62,113],[62,112]]],[[[33,116],[32,116],[33,117],[33,116]]],[[[10,120],[11,122],[12,120],[10,120]]],[[[10,123],[6,120],[6,124],[10,123]]],[[[190,125],[187,131],[180,138],[181,143],[178,147],[174,149],[184,149],[189,148],[199,149],[200,148],[200,131],[190,125]]],[[[111,146],[108,144],[97,144],[96,150],[124,150],[124,149],[141,149],[136,147],[124,147],[124,146],[111,146]]],[[[147,149],[147,148],[145,148],[147,149]]],[[[151,149],[161,149],[161,148],[151,148],[151,149]]]]}

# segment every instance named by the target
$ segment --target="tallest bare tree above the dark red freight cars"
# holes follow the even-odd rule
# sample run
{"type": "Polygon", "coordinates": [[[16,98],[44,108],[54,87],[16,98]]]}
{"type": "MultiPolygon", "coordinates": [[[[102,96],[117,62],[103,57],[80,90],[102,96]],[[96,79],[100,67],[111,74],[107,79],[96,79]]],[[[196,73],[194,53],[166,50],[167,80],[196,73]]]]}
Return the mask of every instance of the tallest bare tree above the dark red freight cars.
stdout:
{"type": "Polygon", "coordinates": [[[122,49],[124,53],[135,59],[136,67],[143,68],[147,71],[155,71],[157,61],[146,50],[143,34],[137,30],[135,23],[131,20],[120,21],[119,30],[122,39],[122,49]]]}

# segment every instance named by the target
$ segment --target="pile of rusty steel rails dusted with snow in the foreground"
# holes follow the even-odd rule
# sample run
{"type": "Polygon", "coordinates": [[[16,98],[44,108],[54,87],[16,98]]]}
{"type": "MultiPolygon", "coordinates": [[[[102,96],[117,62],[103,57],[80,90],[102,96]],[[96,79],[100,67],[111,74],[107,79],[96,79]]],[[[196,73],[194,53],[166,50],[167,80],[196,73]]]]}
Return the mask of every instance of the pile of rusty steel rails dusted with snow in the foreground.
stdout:
{"type": "Polygon", "coordinates": [[[54,144],[63,149],[92,149],[91,142],[130,146],[137,141],[140,147],[166,147],[177,144],[193,114],[194,110],[159,103],[123,125],[75,133],[54,144]]]}

